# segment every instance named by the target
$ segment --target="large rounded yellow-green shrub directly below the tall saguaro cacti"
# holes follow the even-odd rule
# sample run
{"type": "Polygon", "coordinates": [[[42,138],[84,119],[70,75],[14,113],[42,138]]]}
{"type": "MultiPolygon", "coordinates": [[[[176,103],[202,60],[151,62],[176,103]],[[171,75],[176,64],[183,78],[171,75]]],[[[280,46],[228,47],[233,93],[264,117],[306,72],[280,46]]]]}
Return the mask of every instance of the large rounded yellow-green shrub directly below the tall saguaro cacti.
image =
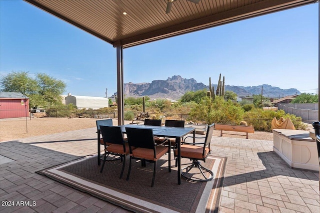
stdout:
{"type": "Polygon", "coordinates": [[[204,97],[191,109],[189,116],[194,122],[206,124],[238,124],[242,120],[243,113],[241,107],[237,107],[231,101],[223,100],[223,97],[215,97],[213,101],[204,97]]]}

